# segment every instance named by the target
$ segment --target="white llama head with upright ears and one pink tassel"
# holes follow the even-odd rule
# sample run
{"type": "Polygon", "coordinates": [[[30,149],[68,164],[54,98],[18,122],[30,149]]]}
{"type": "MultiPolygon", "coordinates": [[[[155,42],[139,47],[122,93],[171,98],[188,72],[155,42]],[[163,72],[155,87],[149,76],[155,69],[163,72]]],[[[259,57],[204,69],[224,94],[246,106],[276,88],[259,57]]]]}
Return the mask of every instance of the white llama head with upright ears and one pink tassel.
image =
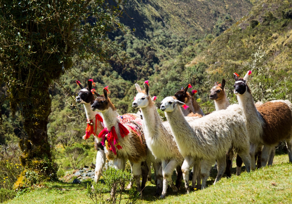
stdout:
{"type": "Polygon", "coordinates": [[[145,108],[148,106],[149,102],[152,99],[149,96],[149,86],[147,83],[144,83],[144,90],[142,91],[141,87],[138,84],[135,84],[138,94],[135,96],[133,101],[134,108],[145,108]]]}

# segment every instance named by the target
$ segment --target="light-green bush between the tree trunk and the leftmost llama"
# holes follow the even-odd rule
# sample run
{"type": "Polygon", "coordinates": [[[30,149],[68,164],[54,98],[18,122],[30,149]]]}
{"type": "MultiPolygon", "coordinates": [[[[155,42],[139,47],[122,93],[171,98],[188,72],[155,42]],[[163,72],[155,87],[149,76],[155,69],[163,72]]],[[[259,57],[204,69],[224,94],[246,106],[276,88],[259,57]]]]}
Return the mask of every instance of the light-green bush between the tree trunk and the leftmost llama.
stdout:
{"type": "Polygon", "coordinates": [[[80,161],[88,155],[88,152],[83,145],[75,144],[72,147],[65,148],[65,155],[72,164],[72,167],[78,169],[80,161]]]}

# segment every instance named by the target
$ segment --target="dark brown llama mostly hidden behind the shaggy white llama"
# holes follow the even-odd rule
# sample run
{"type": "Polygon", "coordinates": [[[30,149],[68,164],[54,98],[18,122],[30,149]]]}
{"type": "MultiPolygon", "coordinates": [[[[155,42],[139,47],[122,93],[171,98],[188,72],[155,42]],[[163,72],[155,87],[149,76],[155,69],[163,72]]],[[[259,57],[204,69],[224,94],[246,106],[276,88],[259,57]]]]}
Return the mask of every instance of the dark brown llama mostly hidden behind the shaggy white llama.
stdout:
{"type": "MultiPolygon", "coordinates": [[[[189,84],[187,85],[187,87],[182,87],[180,91],[176,92],[174,94],[174,96],[176,97],[176,99],[178,99],[179,101],[185,103],[187,106],[189,106],[189,108],[184,109],[182,108],[183,111],[183,115],[187,116],[189,115],[191,112],[196,114],[200,114],[204,116],[203,110],[200,108],[200,105],[197,103],[196,99],[193,97],[193,95],[191,96],[189,94],[189,92],[187,92],[188,88],[191,88],[192,86],[189,84]]],[[[192,91],[192,94],[196,93],[196,90],[192,91]]]]}

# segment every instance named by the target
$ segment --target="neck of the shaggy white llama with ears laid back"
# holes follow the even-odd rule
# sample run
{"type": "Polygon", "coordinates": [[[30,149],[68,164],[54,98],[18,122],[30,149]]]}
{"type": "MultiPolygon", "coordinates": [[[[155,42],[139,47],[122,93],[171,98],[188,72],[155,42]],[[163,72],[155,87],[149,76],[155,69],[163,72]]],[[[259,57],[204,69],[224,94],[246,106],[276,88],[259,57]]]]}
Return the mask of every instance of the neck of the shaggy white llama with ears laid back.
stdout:
{"type": "Polygon", "coordinates": [[[182,155],[184,154],[182,150],[185,149],[185,144],[189,143],[190,137],[192,140],[195,140],[194,149],[199,151],[201,147],[198,145],[199,142],[197,140],[197,135],[190,124],[186,121],[185,117],[183,116],[183,112],[180,110],[180,107],[176,105],[174,111],[165,112],[165,116],[169,122],[171,132],[173,133],[175,141],[182,155]]]}

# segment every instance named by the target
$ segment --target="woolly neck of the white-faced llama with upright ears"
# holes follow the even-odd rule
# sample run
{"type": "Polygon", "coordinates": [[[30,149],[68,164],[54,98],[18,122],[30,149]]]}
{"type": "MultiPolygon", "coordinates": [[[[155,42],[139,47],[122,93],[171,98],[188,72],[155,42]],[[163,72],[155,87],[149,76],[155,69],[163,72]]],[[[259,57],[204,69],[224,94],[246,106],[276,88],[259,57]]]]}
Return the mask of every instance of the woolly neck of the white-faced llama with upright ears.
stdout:
{"type": "Polygon", "coordinates": [[[156,133],[159,131],[159,127],[163,126],[157,108],[152,103],[145,108],[141,108],[141,113],[143,117],[143,129],[148,133],[145,134],[145,137],[157,137],[158,134],[156,133]]]}

